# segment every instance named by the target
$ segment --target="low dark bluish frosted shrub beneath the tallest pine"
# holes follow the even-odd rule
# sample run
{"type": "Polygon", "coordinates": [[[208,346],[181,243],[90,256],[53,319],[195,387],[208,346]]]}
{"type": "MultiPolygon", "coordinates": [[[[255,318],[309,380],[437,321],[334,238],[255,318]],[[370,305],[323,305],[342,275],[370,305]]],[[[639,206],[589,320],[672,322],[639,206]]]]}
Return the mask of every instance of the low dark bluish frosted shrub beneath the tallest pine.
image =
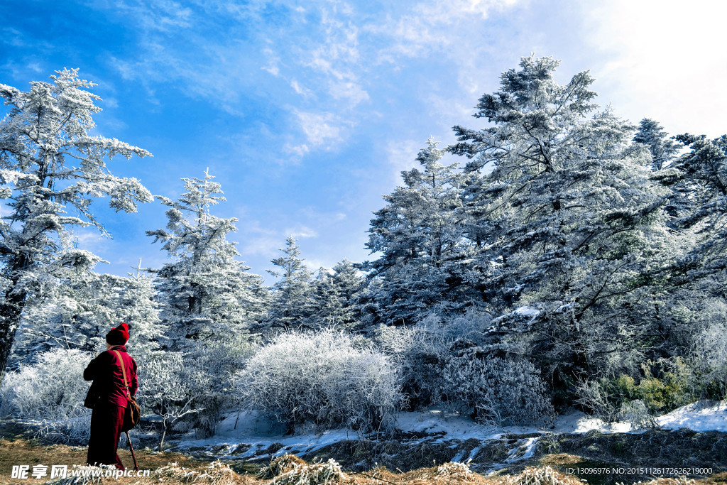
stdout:
{"type": "Polygon", "coordinates": [[[494,425],[543,424],[553,404],[533,364],[524,359],[480,356],[475,348],[443,358],[443,391],[453,404],[474,409],[475,419],[494,425]]]}

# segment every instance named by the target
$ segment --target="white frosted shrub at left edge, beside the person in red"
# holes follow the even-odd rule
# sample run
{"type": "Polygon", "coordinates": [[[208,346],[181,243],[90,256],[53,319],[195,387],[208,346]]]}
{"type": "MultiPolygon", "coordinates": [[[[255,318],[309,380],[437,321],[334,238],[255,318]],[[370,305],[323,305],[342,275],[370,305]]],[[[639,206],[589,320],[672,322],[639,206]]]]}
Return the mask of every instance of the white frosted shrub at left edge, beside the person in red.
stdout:
{"type": "Polygon", "coordinates": [[[57,349],[7,372],[0,389],[2,414],[48,420],[84,415],[89,382],[83,374],[91,359],[80,350],[57,349]]]}

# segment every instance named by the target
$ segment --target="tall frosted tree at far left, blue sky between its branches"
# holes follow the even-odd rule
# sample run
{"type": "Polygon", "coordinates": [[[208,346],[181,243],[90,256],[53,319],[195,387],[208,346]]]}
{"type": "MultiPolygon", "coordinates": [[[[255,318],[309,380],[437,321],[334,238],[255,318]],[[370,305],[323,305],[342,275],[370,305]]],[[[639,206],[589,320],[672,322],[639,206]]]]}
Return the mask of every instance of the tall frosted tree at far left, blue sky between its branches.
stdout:
{"type": "MultiPolygon", "coordinates": [[[[121,155],[150,156],[148,151],[115,138],[89,135],[100,97],[88,91],[78,70],[56,71],[51,82],[32,82],[29,91],[0,84],[9,106],[0,123],[0,379],[28,297],[47,265],[62,250],[74,226],[95,225],[91,212],[97,197],[109,196],[113,209],[135,212],[151,194],[134,178],[111,175],[106,160],[121,155]],[[70,209],[76,215],[68,215],[70,209]]],[[[73,256],[65,256],[73,264],[73,256]]]]}

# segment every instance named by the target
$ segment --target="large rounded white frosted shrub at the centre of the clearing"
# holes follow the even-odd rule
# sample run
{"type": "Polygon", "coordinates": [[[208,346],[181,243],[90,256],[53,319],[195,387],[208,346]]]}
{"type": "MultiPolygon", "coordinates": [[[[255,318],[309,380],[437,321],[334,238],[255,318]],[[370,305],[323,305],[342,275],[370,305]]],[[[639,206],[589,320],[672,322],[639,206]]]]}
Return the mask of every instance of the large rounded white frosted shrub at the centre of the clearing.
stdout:
{"type": "Polygon", "coordinates": [[[330,329],[278,335],[234,382],[244,406],[291,428],[310,421],[321,428],[376,430],[402,401],[389,359],[330,329]]]}

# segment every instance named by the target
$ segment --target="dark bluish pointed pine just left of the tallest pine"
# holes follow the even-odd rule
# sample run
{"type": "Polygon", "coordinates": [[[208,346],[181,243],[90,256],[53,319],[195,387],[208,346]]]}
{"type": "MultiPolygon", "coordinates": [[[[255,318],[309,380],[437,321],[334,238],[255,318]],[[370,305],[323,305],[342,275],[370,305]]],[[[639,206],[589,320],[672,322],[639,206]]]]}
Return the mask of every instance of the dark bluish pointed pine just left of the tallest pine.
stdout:
{"type": "Polygon", "coordinates": [[[417,156],[421,169],[401,172],[404,185],[384,196],[387,206],[371,220],[366,247],[381,253],[364,263],[379,280],[366,295],[374,324],[414,323],[434,305],[457,305],[461,175],[457,164],[441,164],[437,145],[427,140],[417,156]]]}

